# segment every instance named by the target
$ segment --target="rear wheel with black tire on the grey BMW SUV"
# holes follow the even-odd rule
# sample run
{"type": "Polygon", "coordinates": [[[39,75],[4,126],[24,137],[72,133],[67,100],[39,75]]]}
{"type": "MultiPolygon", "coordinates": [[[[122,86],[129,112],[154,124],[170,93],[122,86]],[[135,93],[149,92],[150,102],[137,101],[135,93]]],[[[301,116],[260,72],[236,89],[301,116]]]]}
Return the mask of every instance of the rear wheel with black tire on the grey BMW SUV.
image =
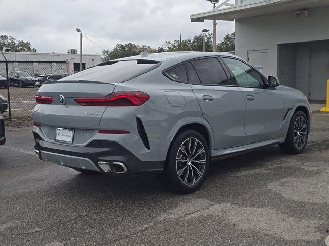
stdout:
{"type": "Polygon", "coordinates": [[[202,185],[208,168],[209,148],[205,138],[196,131],[188,130],[174,138],[168,151],[165,169],[158,177],[167,188],[187,194],[196,191],[202,185]],[[181,146],[185,154],[180,149],[181,146]]]}

